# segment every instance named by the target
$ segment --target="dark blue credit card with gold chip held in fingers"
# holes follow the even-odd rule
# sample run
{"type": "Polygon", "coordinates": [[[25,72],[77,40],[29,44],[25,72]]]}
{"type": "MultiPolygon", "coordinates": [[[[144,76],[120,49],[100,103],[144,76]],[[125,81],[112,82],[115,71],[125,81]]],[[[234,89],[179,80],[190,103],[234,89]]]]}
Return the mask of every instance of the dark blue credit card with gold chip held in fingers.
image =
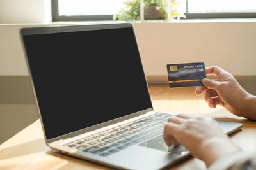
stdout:
{"type": "Polygon", "coordinates": [[[167,64],[169,87],[203,86],[204,62],[167,64]]]}

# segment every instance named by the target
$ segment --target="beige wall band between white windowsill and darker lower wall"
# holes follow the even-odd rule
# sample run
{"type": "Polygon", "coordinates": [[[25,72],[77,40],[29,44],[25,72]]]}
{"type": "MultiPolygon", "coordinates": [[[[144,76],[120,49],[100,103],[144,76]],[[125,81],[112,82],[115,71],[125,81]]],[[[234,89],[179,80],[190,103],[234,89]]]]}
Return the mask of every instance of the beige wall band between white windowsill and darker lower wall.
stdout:
{"type": "MultiPolygon", "coordinates": [[[[234,75],[256,75],[256,22],[133,25],[147,75],[166,75],[166,64],[179,62],[205,62],[234,75]]],[[[42,25],[0,25],[0,76],[28,75],[19,29],[31,26],[42,25]]]]}

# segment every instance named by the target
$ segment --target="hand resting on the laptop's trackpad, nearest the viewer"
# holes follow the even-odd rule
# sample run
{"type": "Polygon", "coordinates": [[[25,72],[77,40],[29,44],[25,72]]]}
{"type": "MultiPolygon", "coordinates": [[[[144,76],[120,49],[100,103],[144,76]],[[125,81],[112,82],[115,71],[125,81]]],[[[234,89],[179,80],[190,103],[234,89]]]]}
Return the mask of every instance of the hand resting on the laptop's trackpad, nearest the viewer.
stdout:
{"type": "Polygon", "coordinates": [[[223,155],[240,150],[212,118],[188,115],[171,117],[164,127],[163,138],[168,146],[181,143],[191,155],[203,160],[207,167],[223,155]]]}

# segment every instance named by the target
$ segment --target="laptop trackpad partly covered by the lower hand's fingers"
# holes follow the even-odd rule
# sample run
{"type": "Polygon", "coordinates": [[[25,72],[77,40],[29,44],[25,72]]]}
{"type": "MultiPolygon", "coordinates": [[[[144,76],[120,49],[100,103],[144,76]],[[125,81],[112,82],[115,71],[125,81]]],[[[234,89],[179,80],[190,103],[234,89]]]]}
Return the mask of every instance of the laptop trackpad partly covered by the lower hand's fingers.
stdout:
{"type": "Polygon", "coordinates": [[[178,155],[183,155],[188,153],[188,150],[186,150],[186,148],[182,145],[179,146],[170,146],[168,147],[163,139],[163,134],[157,136],[156,138],[150,139],[148,141],[145,141],[143,143],[140,143],[139,146],[144,146],[147,148],[153,148],[153,149],[157,149],[157,150],[162,150],[164,152],[168,152],[168,153],[175,153],[178,155]]]}

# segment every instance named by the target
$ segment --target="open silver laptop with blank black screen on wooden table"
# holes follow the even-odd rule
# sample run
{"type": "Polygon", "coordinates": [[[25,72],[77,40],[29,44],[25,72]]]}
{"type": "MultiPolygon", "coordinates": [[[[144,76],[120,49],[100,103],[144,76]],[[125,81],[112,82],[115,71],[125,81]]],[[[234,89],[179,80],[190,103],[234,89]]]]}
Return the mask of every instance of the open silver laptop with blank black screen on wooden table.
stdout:
{"type": "MultiPolygon", "coordinates": [[[[132,24],[20,30],[47,145],[117,169],[163,169],[189,156],[167,147],[175,114],[154,111],[132,24]]],[[[221,122],[227,134],[241,124],[221,122]]]]}

